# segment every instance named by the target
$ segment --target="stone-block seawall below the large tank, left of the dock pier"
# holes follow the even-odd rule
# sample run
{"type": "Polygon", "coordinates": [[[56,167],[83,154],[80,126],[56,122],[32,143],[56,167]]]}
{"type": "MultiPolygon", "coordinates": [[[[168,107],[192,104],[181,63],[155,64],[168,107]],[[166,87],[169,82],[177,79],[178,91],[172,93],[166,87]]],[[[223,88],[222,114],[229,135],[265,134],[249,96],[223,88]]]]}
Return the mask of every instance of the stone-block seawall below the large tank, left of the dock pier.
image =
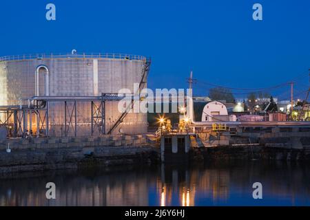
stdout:
{"type": "Polygon", "coordinates": [[[0,173],[156,163],[158,155],[143,135],[7,140],[0,145],[0,173]]]}

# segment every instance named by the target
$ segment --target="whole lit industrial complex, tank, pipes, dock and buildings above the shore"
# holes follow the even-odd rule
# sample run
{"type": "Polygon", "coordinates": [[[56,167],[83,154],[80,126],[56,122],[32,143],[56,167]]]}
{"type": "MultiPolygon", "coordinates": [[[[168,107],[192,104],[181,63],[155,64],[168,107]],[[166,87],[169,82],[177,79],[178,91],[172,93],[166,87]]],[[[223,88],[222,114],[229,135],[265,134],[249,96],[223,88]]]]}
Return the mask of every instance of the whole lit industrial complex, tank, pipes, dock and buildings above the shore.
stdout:
{"type": "Polygon", "coordinates": [[[19,144],[32,147],[78,144],[82,148],[147,144],[152,149],[159,144],[163,162],[185,161],[194,148],[310,146],[307,102],[297,112],[293,96],[286,111],[273,107],[272,97],[262,100],[265,107],[258,105],[260,100],[252,100],[253,104],[248,100],[252,105],[249,108],[245,108],[245,102],[193,97],[192,72],[186,96],[174,97],[168,93],[149,99],[156,100],[156,104],[159,100],[159,109],[163,102],[168,102],[166,110],[172,108],[169,105],[178,106],[175,115],[160,112],[152,129],[149,113],[131,111],[137,101],[149,98],[142,90],[147,88],[150,65],[151,60],[145,56],[76,51],[1,57],[1,142],[8,144],[8,153],[11,142],[13,148],[19,148],[19,144]],[[121,112],[119,101],[124,99],[129,102],[121,112]],[[198,112],[197,103],[200,103],[198,112]],[[267,111],[269,107],[272,111],[267,111]]]}

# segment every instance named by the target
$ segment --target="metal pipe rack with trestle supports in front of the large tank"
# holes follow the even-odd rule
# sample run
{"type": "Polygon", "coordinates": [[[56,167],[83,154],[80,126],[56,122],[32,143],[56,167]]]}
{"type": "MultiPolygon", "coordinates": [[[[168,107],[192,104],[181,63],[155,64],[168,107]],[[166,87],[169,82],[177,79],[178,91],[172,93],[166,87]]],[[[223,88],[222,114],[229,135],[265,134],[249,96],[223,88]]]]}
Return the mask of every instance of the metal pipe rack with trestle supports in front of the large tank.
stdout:
{"type": "MultiPolygon", "coordinates": [[[[105,102],[122,100],[132,94],[101,94],[101,96],[34,96],[27,99],[28,105],[0,107],[0,126],[5,126],[8,137],[28,137],[50,135],[50,103],[62,102],[64,104],[63,126],[65,137],[74,134],[77,136],[77,102],[89,102],[91,106],[91,135],[98,131],[105,134],[105,102]],[[33,117],[35,123],[33,123],[33,117]],[[3,120],[1,120],[1,118],[3,120]],[[34,126],[33,124],[36,124],[34,126]],[[36,131],[35,134],[32,131],[36,131]]],[[[24,100],[25,101],[25,100],[24,100]]]]}

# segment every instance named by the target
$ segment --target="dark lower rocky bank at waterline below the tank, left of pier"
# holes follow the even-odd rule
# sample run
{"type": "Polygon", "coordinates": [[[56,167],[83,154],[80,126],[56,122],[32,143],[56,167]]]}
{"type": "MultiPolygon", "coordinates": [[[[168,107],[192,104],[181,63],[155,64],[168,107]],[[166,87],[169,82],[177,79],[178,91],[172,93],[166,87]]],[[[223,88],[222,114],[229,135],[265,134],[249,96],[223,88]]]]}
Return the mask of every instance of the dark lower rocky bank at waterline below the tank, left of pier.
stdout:
{"type": "Polygon", "coordinates": [[[158,155],[158,148],[150,146],[14,149],[11,153],[0,152],[0,175],[97,166],[157,164],[158,155]]]}

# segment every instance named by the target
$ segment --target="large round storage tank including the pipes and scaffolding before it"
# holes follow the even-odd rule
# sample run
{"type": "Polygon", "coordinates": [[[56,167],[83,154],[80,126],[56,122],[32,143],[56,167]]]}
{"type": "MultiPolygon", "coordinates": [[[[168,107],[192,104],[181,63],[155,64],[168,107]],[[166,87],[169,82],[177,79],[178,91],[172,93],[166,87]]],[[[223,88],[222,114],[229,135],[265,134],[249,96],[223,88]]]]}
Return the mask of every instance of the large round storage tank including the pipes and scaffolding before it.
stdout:
{"type": "Polygon", "coordinates": [[[147,114],[121,113],[115,100],[147,86],[149,65],[145,56],[73,51],[1,57],[0,124],[12,136],[145,133],[147,114]]]}

